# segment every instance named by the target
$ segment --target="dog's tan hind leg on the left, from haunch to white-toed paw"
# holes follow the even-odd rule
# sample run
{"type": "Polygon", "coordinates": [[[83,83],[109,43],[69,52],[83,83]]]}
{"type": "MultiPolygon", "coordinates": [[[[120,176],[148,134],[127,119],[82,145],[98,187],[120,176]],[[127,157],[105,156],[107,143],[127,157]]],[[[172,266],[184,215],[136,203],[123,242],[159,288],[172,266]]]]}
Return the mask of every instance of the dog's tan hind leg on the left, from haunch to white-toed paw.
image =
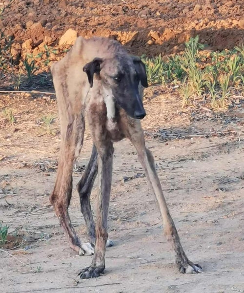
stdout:
{"type": "Polygon", "coordinates": [[[68,236],[71,249],[83,255],[91,253],[81,249],[81,242],[68,213],[72,195],[73,166],[83,144],[84,100],[89,90],[86,74],[82,71],[82,60],[75,49],[73,47],[61,61],[55,63],[51,68],[61,124],[61,149],[56,182],[50,195],[50,201],[60,220],[61,227],[68,236]]]}

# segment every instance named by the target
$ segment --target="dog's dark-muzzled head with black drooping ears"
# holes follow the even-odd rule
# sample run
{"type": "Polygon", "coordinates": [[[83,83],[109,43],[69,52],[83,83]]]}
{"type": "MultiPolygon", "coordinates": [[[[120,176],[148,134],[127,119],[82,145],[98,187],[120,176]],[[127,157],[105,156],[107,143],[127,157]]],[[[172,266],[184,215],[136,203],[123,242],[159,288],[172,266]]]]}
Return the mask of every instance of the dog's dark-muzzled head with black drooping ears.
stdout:
{"type": "Polygon", "coordinates": [[[114,99],[130,117],[145,117],[139,87],[140,83],[143,87],[148,84],[145,65],[140,58],[125,54],[104,60],[95,58],[83,67],[83,71],[86,72],[91,87],[96,76],[102,82],[107,98],[114,99]]]}

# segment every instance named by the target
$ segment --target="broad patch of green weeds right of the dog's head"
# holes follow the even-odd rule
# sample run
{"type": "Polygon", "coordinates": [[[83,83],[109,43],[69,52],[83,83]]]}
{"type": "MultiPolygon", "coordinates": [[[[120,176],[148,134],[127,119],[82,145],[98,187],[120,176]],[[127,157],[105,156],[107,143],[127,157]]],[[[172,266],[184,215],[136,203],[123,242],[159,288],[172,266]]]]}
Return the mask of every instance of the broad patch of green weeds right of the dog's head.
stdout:
{"type": "Polygon", "coordinates": [[[244,88],[244,45],[235,47],[232,51],[212,52],[211,59],[208,59],[210,64],[201,61],[206,60],[200,58],[199,52],[203,48],[197,36],[185,43],[182,55],[167,59],[163,59],[161,55],[153,58],[142,56],[142,61],[146,64],[148,83],[180,83],[179,93],[183,98],[183,106],[189,104],[194,93],[198,96],[208,93],[212,107],[224,106],[225,99],[230,96],[230,83],[239,89],[244,88]],[[219,96],[220,103],[217,103],[219,96]]]}

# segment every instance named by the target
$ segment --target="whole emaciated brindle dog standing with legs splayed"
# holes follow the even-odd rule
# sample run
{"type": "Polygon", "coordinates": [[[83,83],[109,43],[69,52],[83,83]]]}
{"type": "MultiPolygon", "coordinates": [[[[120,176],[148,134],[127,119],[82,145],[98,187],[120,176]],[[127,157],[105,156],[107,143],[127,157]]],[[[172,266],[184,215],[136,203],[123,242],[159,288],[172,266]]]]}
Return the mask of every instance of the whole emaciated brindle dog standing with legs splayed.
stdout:
{"type": "Polygon", "coordinates": [[[80,255],[94,253],[91,266],[82,270],[80,277],[97,277],[105,268],[113,142],[123,138],[128,138],[135,146],[150,188],[158,200],[164,233],[173,245],[177,267],[180,272],[201,272],[201,267],[190,262],[183,251],[163,196],[153,156],[145,147],[140,122],[145,116],[142,104],[142,86],[147,86],[144,64],[138,57],[128,55],[116,41],[79,37],[73,48],[51,70],[59,107],[61,150],[50,201],[68,235],[70,247],[80,255]],[[81,243],[70,222],[68,207],[72,193],[72,169],[83,143],[85,115],[94,146],[89,164],[77,185],[88,238],[88,243],[81,243]],[[95,225],[90,193],[97,174],[99,191],[95,225]]]}

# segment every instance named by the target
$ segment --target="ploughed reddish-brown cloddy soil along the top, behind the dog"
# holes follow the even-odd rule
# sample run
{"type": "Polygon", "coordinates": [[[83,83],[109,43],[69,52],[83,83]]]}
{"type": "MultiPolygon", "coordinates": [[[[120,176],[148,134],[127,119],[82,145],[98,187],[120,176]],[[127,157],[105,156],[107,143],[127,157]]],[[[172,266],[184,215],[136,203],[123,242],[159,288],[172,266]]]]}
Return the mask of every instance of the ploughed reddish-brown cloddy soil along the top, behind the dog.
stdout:
{"type": "Polygon", "coordinates": [[[1,31],[15,39],[14,55],[28,39],[32,49],[55,45],[69,28],[117,39],[137,55],[177,52],[196,35],[223,50],[243,42],[244,7],[242,0],[15,0],[0,20],[1,31]]]}

